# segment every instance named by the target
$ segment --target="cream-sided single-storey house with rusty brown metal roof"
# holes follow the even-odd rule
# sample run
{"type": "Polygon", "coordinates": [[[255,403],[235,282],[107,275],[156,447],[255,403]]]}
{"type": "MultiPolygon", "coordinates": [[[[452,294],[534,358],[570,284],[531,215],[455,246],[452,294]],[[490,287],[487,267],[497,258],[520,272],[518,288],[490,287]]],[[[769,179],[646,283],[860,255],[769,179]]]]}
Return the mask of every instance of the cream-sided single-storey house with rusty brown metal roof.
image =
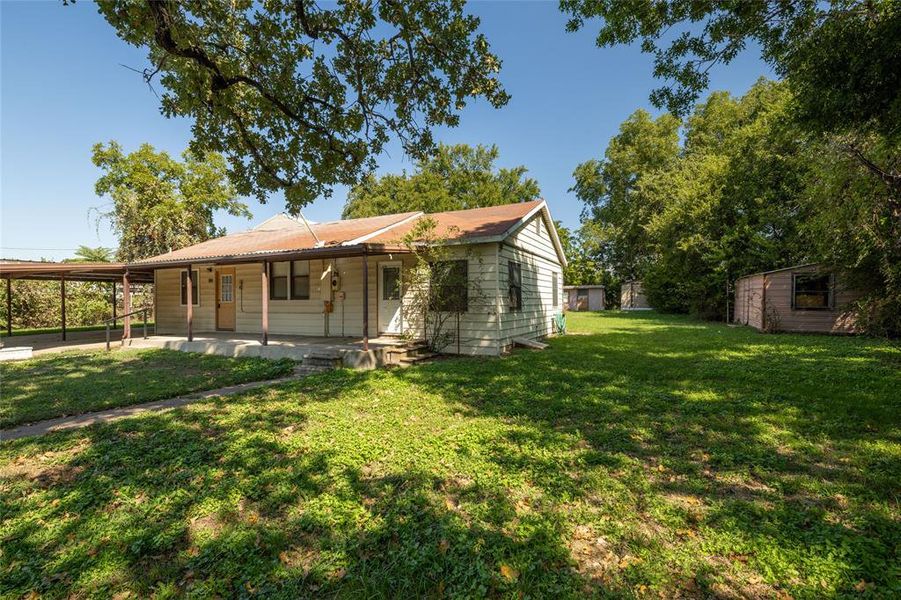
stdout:
{"type": "MultiPolygon", "coordinates": [[[[278,215],[133,267],[153,269],[159,334],[225,330],[260,334],[263,343],[270,334],[354,336],[367,344],[417,337],[403,311],[405,273],[414,264],[403,238],[425,216],[308,224],[278,215]]],[[[543,200],[428,217],[469,281],[459,339],[447,351],[459,341],[461,354],[496,355],[514,338],[552,332],[566,258],[543,200]]]]}

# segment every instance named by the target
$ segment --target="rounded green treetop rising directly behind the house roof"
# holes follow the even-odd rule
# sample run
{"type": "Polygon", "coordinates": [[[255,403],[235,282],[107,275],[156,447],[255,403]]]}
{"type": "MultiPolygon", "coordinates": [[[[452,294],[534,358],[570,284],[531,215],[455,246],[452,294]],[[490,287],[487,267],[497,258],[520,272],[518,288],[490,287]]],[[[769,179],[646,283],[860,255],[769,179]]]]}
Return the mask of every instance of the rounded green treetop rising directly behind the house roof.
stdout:
{"type": "Polygon", "coordinates": [[[427,213],[534,200],[538,183],[523,167],[498,169],[497,146],[439,144],[413,174],[367,176],[347,197],[346,219],[421,210],[427,213]]]}

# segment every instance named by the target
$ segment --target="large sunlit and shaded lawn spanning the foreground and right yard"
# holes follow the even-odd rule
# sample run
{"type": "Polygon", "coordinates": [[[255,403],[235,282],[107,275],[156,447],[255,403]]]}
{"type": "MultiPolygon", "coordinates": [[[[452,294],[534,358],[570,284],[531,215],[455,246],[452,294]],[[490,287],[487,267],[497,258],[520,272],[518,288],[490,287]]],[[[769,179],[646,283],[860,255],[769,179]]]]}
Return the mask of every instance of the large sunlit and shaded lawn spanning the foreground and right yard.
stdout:
{"type": "Polygon", "coordinates": [[[569,327],[0,445],[0,595],[901,594],[901,353],[569,327]]]}

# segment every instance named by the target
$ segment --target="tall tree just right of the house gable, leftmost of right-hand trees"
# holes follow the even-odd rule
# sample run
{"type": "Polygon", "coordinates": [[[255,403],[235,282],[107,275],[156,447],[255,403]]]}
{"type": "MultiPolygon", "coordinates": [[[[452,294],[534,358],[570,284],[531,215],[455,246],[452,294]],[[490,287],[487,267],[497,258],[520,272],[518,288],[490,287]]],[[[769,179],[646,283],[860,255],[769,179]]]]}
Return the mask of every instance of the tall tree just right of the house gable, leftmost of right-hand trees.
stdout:
{"type": "Polygon", "coordinates": [[[583,221],[594,254],[617,275],[636,277],[651,258],[646,226],[661,210],[661,199],[642,193],[649,174],[673,164],[679,154],[680,121],[670,114],[657,119],[632,113],[610,140],[604,158],[576,167],[570,191],[585,204],[583,221]]]}

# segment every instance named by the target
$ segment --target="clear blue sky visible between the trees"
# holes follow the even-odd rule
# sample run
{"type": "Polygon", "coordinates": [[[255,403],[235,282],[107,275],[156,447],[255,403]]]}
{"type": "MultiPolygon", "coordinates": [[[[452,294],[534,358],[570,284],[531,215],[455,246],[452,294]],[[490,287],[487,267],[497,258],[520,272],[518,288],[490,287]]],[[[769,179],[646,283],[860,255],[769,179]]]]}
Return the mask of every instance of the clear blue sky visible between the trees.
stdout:
{"type": "MultiPolygon", "coordinates": [[[[437,137],[497,144],[501,166],[525,165],[555,218],[577,226],[581,205],[567,191],[573,169],[601,156],[631,112],[652,109],[651,59],[635,47],[597,48],[596,27],[566,33],[556,2],[477,2],[470,10],[503,59],[512,99],[500,110],[470,104],[460,126],[437,137]]],[[[150,142],[179,154],[190,122],[160,115],[140,76],[121,66],[143,68],[144,50],[120,41],[89,2],[0,1],[0,28],[0,255],[61,259],[79,244],[114,247],[108,225],[98,229],[91,213],[105,202],[94,193],[91,146],[115,139],[131,150],[150,142]]],[[[713,74],[712,88],[741,94],[761,75],[771,73],[748,51],[713,74]]],[[[379,159],[383,173],[410,166],[396,147],[379,159]]],[[[345,195],[336,189],[304,214],[338,218],[345,195]]],[[[219,224],[238,231],[283,208],[280,197],[248,203],[252,221],[223,215],[219,224]]]]}

